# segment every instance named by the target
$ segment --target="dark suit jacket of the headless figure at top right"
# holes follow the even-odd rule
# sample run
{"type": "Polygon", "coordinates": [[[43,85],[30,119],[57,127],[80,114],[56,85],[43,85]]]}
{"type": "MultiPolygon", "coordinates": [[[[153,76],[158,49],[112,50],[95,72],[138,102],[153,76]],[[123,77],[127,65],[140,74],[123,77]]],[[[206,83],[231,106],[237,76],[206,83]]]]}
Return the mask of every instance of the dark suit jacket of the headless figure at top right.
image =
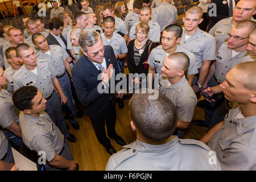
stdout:
{"type": "MultiPolygon", "coordinates": [[[[209,16],[209,11],[212,9],[212,7],[208,7],[207,11],[207,17],[210,20],[207,28],[207,32],[209,32],[210,28],[214,26],[218,21],[228,18],[229,17],[229,5],[228,5],[229,0],[212,0],[210,3],[215,3],[217,6],[217,16],[209,16]],[[226,1],[224,4],[223,2],[226,1]]],[[[235,0],[236,4],[239,0],[235,0]]]]}

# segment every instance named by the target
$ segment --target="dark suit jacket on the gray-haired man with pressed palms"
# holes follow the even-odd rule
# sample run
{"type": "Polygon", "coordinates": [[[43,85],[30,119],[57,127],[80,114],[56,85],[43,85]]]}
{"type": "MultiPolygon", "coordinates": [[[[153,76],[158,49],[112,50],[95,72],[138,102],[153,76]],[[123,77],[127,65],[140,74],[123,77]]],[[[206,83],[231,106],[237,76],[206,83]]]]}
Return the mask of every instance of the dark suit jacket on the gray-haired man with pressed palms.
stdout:
{"type": "MultiPolygon", "coordinates": [[[[114,50],[111,46],[105,46],[106,67],[113,64],[115,75],[118,74],[117,61],[115,59],[114,50]]],[[[72,68],[72,80],[76,89],[77,97],[82,105],[86,107],[86,114],[91,119],[105,118],[109,113],[110,104],[115,103],[115,94],[98,93],[98,85],[104,86],[101,80],[97,80],[101,72],[95,67],[85,55],[83,55],[72,68]]],[[[115,82],[117,84],[117,82],[115,82]]],[[[110,82],[109,82],[110,85],[110,82]]],[[[111,85],[110,85],[111,86],[111,85]]]]}

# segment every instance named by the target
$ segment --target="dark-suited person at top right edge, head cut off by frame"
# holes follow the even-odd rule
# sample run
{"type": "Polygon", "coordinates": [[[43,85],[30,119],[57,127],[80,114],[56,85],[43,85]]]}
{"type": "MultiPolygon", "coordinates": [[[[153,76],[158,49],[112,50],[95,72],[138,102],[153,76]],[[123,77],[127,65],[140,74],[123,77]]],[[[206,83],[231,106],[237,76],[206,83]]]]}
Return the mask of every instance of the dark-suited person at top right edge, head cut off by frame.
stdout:
{"type": "Polygon", "coordinates": [[[236,6],[237,2],[239,0],[231,0],[232,1],[232,7],[230,7],[230,0],[212,0],[211,3],[215,3],[217,9],[216,9],[216,14],[217,16],[212,16],[211,14],[213,13],[213,7],[209,6],[208,7],[208,12],[207,12],[207,17],[210,20],[207,28],[207,32],[209,32],[210,28],[214,26],[218,21],[228,18],[233,16],[233,10],[234,7],[236,6]],[[229,7],[232,8],[232,11],[229,10],[229,7]]]}

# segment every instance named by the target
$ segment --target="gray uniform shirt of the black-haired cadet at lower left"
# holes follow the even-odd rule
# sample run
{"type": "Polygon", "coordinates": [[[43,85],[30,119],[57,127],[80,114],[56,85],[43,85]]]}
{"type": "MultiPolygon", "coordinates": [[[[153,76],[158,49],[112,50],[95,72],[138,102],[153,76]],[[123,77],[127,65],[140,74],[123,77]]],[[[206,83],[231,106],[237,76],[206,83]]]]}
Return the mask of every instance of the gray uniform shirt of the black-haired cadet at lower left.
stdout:
{"type": "Polygon", "coordinates": [[[46,112],[36,117],[21,111],[19,121],[23,142],[30,150],[45,151],[49,162],[55,153],[59,154],[64,145],[63,134],[46,112]]]}

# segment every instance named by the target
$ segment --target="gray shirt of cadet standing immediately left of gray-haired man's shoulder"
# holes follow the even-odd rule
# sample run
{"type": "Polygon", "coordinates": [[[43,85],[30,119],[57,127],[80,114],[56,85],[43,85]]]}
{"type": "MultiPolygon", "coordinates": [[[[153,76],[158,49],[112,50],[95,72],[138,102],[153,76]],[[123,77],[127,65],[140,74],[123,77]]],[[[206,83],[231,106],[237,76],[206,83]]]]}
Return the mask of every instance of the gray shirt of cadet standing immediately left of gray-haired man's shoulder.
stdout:
{"type": "Polygon", "coordinates": [[[69,55],[66,51],[63,51],[63,49],[59,45],[50,45],[49,49],[51,56],[47,53],[39,51],[36,54],[36,58],[38,60],[48,60],[48,62],[51,63],[53,67],[57,70],[57,76],[61,76],[65,73],[66,70],[64,60],[67,59],[69,55]]]}

